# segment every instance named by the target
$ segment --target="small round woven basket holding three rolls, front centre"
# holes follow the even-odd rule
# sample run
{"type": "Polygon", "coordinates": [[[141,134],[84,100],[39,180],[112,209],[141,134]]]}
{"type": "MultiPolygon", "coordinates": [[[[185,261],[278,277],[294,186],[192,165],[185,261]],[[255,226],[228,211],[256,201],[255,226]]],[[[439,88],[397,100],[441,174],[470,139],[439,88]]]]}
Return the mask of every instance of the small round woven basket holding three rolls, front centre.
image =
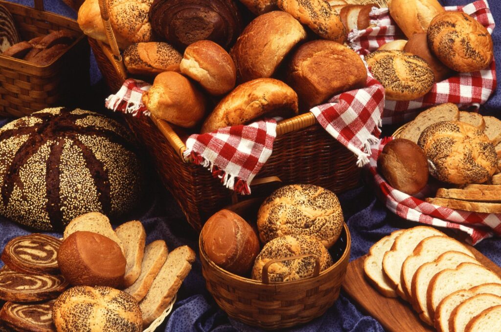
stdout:
{"type": "MultiPolygon", "coordinates": [[[[253,199],[252,203],[226,208],[245,216],[246,220],[255,220],[261,201],[253,199]]],[[[331,267],[307,279],[265,283],[230,273],[214,264],[203,250],[202,241],[200,236],[202,274],[219,307],[234,319],[265,329],[302,324],[327,311],[339,297],[351,249],[350,231],[345,224],[340,238],[329,249],[335,262],[331,267]]],[[[264,280],[272,262],[263,268],[264,280]]]]}

